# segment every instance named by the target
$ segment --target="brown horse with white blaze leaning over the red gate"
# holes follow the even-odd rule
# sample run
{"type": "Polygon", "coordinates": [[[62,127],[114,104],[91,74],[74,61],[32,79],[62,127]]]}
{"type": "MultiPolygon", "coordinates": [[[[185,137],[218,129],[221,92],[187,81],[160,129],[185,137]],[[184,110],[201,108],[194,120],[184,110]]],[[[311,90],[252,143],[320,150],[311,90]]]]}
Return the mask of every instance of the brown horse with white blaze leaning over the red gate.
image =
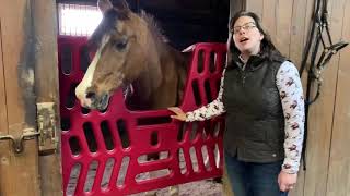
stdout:
{"type": "Polygon", "coordinates": [[[105,110],[113,93],[132,84],[131,109],[176,106],[187,76],[186,54],[175,50],[153,17],[131,12],[125,0],[98,0],[103,20],[90,38],[95,56],[75,95],[86,108],[105,110]]]}

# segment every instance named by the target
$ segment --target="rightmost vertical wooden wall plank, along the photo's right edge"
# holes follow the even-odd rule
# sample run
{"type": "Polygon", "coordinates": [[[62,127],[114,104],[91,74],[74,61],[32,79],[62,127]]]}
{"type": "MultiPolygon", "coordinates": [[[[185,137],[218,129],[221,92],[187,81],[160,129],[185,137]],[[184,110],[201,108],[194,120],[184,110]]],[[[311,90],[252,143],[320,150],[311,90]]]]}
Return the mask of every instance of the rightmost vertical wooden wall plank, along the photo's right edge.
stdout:
{"type": "MultiPolygon", "coordinates": [[[[350,1],[346,1],[343,4],[337,4],[336,9],[338,12],[340,12],[340,9],[345,9],[342,11],[345,13],[342,20],[339,21],[339,23],[342,23],[342,36],[340,39],[349,41],[350,13],[347,10],[350,9],[350,1]]],[[[338,40],[339,37],[334,39],[335,42],[338,40]]],[[[347,196],[350,193],[350,156],[349,147],[347,147],[349,146],[348,144],[350,140],[350,91],[348,85],[350,83],[349,61],[350,48],[348,46],[341,50],[339,58],[336,106],[327,181],[327,195],[329,196],[347,196]]]]}

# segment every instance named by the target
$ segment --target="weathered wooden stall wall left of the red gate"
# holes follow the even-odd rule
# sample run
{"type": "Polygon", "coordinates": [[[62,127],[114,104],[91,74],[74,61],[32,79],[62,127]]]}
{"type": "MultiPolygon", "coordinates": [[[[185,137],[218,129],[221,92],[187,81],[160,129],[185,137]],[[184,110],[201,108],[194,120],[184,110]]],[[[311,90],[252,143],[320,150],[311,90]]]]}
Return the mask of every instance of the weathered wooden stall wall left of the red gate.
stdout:
{"type": "Polygon", "coordinates": [[[59,154],[39,156],[36,136],[20,154],[3,140],[37,131],[37,102],[58,103],[55,17],[55,1],[0,0],[0,196],[62,195],[59,154]]]}

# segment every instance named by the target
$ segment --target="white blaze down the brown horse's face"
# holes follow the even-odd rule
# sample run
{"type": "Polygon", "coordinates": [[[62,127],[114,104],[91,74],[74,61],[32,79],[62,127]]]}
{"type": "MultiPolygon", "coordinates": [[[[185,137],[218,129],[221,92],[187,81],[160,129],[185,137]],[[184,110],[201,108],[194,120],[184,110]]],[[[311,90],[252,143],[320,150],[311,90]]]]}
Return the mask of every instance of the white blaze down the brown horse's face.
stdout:
{"type": "Polygon", "coordinates": [[[86,72],[84,74],[83,79],[80,82],[80,84],[75,88],[75,96],[80,100],[80,105],[83,107],[91,107],[91,105],[92,105],[92,100],[86,98],[86,94],[88,94],[86,89],[92,86],[92,79],[94,76],[94,72],[95,72],[97,62],[101,57],[102,49],[109,41],[109,38],[110,38],[109,35],[105,35],[103,37],[102,42],[101,42],[101,47],[98,48],[98,50],[95,53],[94,59],[90,63],[86,72]]]}

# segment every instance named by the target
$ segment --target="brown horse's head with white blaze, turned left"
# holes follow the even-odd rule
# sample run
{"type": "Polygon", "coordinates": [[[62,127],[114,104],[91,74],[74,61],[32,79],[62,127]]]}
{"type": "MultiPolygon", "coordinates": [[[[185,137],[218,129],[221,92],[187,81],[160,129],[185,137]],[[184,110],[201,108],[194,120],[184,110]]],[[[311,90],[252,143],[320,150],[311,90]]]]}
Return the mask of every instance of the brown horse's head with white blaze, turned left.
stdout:
{"type": "MultiPolygon", "coordinates": [[[[131,12],[125,0],[98,0],[103,20],[89,39],[95,56],[83,79],[75,88],[81,105],[105,110],[112,94],[152,72],[154,79],[145,84],[156,88],[161,84],[161,68],[155,40],[148,22],[131,12]]],[[[147,93],[144,96],[148,96],[147,93]]]]}

